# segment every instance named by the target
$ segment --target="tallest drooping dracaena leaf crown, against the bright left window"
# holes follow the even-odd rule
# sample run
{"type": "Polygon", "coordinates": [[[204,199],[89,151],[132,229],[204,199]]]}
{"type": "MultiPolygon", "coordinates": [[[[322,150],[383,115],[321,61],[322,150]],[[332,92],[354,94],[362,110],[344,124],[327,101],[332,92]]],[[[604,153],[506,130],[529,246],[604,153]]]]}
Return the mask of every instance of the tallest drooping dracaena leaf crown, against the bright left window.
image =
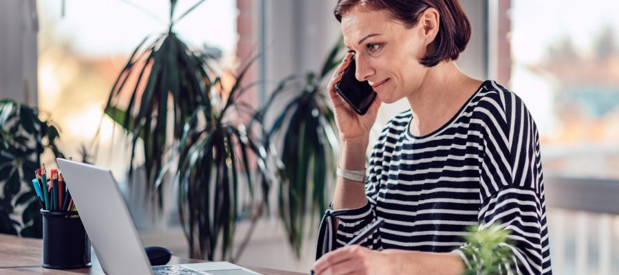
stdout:
{"type": "Polygon", "coordinates": [[[166,161],[166,153],[182,136],[183,126],[202,107],[209,112],[209,92],[215,79],[204,56],[173,31],[173,26],[204,0],[174,17],[176,1],[171,0],[169,29],[144,47],[146,37],[135,48],[116,78],[105,114],[120,124],[131,140],[129,182],[138,154],[143,154],[146,190],[152,202],[162,207],[162,185],[155,179],[166,161]],[[129,95],[129,96],[127,96],[129,95]],[[126,98],[129,98],[127,102],[126,98]],[[169,115],[171,119],[169,120],[169,115]],[[169,135],[171,133],[171,135],[169,135]],[[142,147],[138,151],[138,147],[142,147]]]}

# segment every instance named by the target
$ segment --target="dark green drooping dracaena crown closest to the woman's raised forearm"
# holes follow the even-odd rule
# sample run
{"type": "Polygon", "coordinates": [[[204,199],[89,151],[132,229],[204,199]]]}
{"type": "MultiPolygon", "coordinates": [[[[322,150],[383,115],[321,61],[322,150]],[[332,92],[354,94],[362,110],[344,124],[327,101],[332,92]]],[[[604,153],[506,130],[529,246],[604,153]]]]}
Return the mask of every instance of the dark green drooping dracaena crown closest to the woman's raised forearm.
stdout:
{"type": "Polygon", "coordinates": [[[278,190],[279,214],[297,257],[301,255],[307,228],[305,217],[310,214],[313,224],[325,212],[328,183],[335,178],[337,128],[325,79],[341,60],[342,49],[340,38],[320,71],[284,78],[259,113],[266,115],[274,102],[284,106],[274,114],[267,141],[283,140],[281,148],[277,148],[283,164],[278,190]],[[277,100],[285,94],[291,95],[292,100],[277,100]]]}

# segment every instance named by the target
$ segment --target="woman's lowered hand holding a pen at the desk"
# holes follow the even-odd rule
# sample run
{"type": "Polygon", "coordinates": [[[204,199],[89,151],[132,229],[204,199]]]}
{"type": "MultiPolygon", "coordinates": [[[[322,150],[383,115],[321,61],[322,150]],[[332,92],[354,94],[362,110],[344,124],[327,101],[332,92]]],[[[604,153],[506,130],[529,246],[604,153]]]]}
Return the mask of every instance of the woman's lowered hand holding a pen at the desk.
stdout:
{"type": "Polygon", "coordinates": [[[389,270],[393,267],[389,261],[387,254],[350,245],[324,254],[314,263],[312,270],[317,275],[395,274],[389,270]]]}

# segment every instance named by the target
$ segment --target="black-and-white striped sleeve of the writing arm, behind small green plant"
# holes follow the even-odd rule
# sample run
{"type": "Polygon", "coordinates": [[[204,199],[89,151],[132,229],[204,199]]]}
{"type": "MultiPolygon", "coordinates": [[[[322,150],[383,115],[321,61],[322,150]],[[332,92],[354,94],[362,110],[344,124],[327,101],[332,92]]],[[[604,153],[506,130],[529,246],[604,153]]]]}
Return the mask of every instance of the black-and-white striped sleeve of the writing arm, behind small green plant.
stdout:
{"type": "MultiPolygon", "coordinates": [[[[479,104],[485,127],[479,225],[510,230],[512,244],[501,245],[512,252],[513,272],[551,274],[539,135],[520,98],[507,95],[479,104]]],[[[475,261],[459,253],[467,265],[475,261]]]]}

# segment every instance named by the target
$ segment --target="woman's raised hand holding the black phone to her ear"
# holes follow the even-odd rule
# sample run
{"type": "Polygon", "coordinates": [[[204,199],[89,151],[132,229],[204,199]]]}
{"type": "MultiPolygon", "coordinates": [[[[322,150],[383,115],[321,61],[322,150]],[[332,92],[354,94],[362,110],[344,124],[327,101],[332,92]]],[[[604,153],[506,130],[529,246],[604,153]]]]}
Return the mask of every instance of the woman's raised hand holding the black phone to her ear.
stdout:
{"type": "Polygon", "coordinates": [[[329,81],[327,90],[333,102],[336,124],[340,131],[340,142],[365,142],[369,140],[369,132],[376,122],[380,101],[374,98],[365,115],[356,113],[349,104],[338,94],[335,85],[342,79],[342,74],[348,67],[352,53],[347,54],[335,70],[334,78],[329,81]]]}

